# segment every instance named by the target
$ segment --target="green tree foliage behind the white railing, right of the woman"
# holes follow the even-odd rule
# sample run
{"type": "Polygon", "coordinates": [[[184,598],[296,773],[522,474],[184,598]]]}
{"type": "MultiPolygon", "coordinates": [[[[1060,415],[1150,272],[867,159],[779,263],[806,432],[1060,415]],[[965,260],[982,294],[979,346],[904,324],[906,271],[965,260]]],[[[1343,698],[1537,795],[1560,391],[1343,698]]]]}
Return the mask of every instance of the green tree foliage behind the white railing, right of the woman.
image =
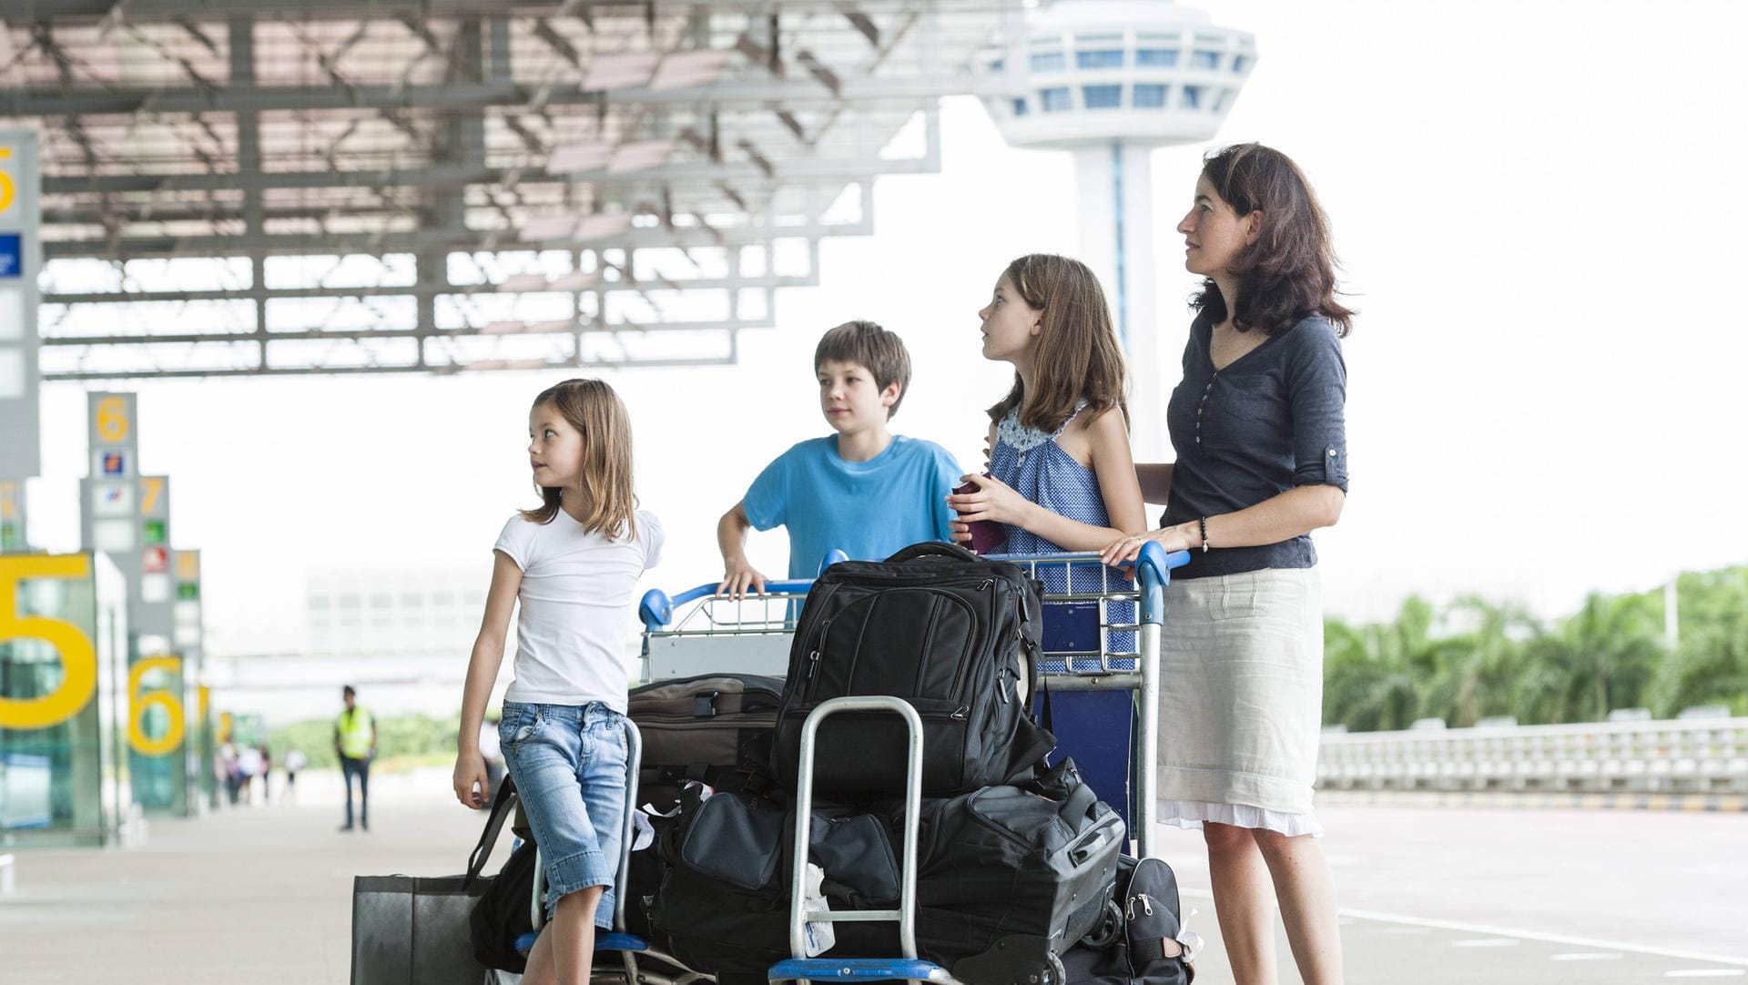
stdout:
{"type": "Polygon", "coordinates": [[[1601,721],[1610,709],[1724,704],[1748,714],[1748,568],[1687,573],[1680,643],[1664,641],[1662,590],[1591,594],[1543,623],[1517,604],[1419,597],[1384,623],[1325,622],[1323,720],[1355,732],[1451,727],[1496,714],[1524,725],[1601,721]]]}

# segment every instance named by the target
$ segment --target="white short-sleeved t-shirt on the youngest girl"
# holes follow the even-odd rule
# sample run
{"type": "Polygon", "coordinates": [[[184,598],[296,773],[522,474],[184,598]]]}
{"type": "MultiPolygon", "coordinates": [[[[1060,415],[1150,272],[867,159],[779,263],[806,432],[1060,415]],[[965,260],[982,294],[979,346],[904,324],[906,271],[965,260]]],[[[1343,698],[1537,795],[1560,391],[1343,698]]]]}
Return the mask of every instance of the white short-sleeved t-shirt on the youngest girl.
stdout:
{"type": "Polygon", "coordinates": [[[643,571],[661,561],[656,513],[636,512],[635,538],[612,541],[584,533],[559,510],[552,522],[510,517],[495,550],[523,569],[516,616],[516,679],[505,700],[584,706],[593,700],[624,713],[636,674],[628,653],[633,594],[643,571]]]}

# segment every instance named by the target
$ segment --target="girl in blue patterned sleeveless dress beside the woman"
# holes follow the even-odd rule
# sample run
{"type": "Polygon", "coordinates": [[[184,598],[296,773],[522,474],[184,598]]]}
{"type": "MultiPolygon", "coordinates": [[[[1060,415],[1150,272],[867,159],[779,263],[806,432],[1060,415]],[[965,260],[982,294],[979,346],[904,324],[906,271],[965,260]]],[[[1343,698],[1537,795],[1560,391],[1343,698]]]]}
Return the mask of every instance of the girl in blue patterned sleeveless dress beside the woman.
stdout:
{"type": "MultiPolygon", "coordinates": [[[[1002,554],[1099,550],[1147,527],[1129,456],[1122,348],[1092,271],[1047,253],[1021,257],[995,285],[982,320],[986,360],[1014,363],[1014,388],[989,409],[989,475],[967,475],[974,492],[947,496],[968,524],[995,520],[1002,554]]],[[[1061,566],[1040,566],[1045,592],[1068,589],[1061,566]]],[[[1075,590],[1103,590],[1105,573],[1077,564],[1075,590]]],[[[1105,618],[1133,623],[1133,603],[1105,618]]],[[[1133,651],[1134,634],[1110,634],[1110,651],[1133,651]]]]}

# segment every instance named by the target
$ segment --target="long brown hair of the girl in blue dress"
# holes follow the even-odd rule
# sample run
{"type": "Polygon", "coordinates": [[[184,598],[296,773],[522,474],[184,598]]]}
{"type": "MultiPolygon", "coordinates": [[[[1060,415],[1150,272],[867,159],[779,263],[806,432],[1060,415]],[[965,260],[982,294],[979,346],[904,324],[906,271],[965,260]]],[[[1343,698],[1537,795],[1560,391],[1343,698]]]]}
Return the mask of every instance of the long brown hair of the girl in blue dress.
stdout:
{"type": "Polygon", "coordinates": [[[1086,400],[1094,417],[1112,407],[1122,410],[1127,428],[1122,346],[1092,271],[1068,257],[1030,253],[1009,264],[1003,276],[1026,304],[1044,313],[1044,328],[1031,355],[1037,393],[1028,395],[1016,372],[1014,388],[989,409],[989,419],[1000,421],[1019,407],[1023,426],[1056,431],[1086,400]]]}

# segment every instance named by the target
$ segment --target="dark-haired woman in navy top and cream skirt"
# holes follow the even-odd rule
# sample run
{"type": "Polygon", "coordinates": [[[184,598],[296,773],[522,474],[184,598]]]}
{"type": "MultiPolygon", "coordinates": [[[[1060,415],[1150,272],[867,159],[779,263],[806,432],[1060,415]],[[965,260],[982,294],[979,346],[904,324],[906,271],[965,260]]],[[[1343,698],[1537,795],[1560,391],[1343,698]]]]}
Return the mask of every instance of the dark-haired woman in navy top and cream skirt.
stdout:
{"type": "Polygon", "coordinates": [[[1335,891],[1311,812],[1323,702],[1323,603],[1311,531],[1348,494],[1328,222],[1304,173],[1257,143],[1217,150],[1178,224],[1201,274],[1183,381],[1166,423],[1176,461],[1136,465],[1161,529],[1190,550],[1161,636],[1159,819],[1201,828],[1220,936],[1239,985],[1276,978],[1269,887],[1306,985],[1341,982],[1335,891]]]}

